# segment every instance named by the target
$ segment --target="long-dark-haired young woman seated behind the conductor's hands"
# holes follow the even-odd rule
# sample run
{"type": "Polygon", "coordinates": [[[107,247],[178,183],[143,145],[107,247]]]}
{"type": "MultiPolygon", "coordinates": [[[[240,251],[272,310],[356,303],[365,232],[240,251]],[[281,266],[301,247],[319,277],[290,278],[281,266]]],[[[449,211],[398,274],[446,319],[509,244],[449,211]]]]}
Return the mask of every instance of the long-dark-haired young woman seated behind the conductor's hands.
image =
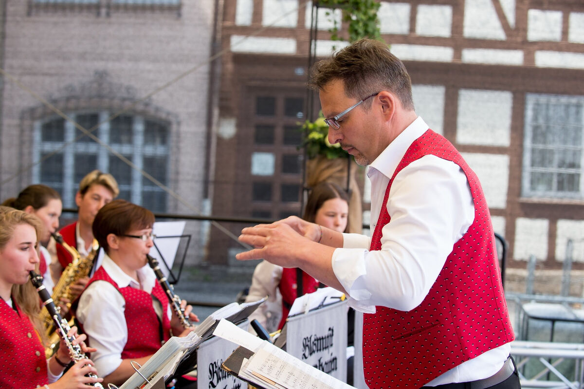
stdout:
{"type": "MultiPolygon", "coordinates": [[[[333,182],[321,182],[310,190],[304,208],[303,219],[322,225],[331,230],[345,232],[349,214],[349,195],[342,187],[333,182]]],[[[286,324],[288,312],[297,297],[312,293],[321,287],[321,283],[299,268],[282,268],[267,261],[262,261],[253,271],[252,284],[245,301],[258,301],[265,296],[275,302],[280,297],[278,311],[267,311],[268,305],[262,304],[249,315],[250,321],[258,319],[268,331],[281,329],[286,324]],[[301,281],[298,282],[298,279],[301,281]],[[280,293],[276,292],[278,290],[280,293]],[[268,328],[272,324],[271,317],[280,317],[276,328],[268,328]]]]}

